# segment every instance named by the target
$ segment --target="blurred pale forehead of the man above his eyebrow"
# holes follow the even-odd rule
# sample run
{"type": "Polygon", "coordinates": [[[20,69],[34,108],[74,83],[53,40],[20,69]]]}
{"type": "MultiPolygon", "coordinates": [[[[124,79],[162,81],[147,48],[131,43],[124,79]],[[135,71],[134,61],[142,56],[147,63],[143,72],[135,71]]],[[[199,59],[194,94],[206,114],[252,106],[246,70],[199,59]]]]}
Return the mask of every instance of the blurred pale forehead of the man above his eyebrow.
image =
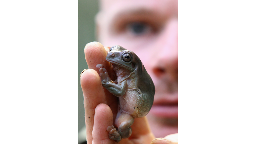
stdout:
{"type": "Polygon", "coordinates": [[[100,9],[106,14],[143,12],[178,15],[178,0],[100,0],[100,9]]]}

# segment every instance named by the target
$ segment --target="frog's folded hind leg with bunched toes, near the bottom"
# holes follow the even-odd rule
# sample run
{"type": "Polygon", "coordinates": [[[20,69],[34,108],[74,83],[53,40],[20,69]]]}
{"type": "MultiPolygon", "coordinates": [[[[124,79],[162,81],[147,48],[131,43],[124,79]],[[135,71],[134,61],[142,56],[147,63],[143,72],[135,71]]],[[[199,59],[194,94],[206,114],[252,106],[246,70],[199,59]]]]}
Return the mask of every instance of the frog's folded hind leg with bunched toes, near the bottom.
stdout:
{"type": "Polygon", "coordinates": [[[121,113],[118,111],[117,117],[115,120],[115,125],[118,127],[116,130],[114,126],[109,126],[107,131],[109,132],[109,138],[119,142],[121,138],[128,138],[132,134],[131,125],[134,122],[134,117],[127,114],[121,113]]]}

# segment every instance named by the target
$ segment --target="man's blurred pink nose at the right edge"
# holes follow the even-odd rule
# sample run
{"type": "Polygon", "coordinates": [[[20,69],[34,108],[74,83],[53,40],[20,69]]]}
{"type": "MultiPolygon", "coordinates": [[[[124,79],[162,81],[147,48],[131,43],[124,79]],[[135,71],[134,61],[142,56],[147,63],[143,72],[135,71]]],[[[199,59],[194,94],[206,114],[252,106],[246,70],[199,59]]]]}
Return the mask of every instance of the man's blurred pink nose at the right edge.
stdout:
{"type": "Polygon", "coordinates": [[[153,73],[159,79],[178,81],[178,19],[171,19],[157,39],[153,73]]]}

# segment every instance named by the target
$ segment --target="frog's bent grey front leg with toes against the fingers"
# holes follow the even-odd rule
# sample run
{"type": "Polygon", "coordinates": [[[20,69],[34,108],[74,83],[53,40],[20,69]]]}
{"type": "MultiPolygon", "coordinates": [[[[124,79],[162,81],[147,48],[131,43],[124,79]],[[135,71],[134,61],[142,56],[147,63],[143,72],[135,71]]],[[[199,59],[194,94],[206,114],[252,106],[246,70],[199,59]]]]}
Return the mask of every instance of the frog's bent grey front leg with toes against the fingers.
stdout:
{"type": "Polygon", "coordinates": [[[123,96],[128,89],[127,80],[122,81],[120,84],[116,84],[110,79],[107,70],[102,67],[102,64],[98,64],[96,67],[100,71],[102,86],[117,97],[123,96]]]}

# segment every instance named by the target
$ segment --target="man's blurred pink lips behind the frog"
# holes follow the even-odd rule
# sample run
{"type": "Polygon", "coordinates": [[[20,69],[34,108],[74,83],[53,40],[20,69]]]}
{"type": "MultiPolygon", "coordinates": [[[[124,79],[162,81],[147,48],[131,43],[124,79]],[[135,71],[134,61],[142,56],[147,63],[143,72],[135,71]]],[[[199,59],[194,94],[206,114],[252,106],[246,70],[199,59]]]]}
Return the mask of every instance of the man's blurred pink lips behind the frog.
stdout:
{"type": "Polygon", "coordinates": [[[156,98],[149,113],[157,117],[178,118],[178,94],[156,98]]]}

